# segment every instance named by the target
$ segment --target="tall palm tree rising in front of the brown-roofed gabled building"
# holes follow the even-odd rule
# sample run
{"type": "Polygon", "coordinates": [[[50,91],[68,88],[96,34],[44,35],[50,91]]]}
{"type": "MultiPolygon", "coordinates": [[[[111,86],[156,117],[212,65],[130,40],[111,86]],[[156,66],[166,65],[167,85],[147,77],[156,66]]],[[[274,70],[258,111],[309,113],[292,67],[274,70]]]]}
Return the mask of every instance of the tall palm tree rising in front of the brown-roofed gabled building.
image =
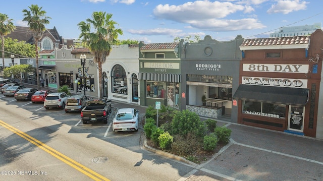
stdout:
{"type": "Polygon", "coordinates": [[[46,12],[41,10],[42,7],[38,5],[31,5],[28,7],[30,11],[23,10],[25,18],[22,21],[27,21],[30,30],[33,32],[33,38],[36,45],[36,78],[37,78],[37,88],[40,90],[40,81],[38,74],[38,41],[42,38],[44,31],[46,30],[45,24],[49,24],[50,17],[46,16],[46,12]]]}

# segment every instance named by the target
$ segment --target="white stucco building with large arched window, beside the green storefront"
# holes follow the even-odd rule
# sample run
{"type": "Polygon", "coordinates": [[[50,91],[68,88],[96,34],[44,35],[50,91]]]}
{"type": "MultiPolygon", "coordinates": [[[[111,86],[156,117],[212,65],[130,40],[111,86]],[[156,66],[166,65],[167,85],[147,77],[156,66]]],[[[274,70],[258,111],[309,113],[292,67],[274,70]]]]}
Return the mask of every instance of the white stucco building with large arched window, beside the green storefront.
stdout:
{"type": "Polygon", "coordinates": [[[102,64],[103,96],[128,103],[139,102],[138,44],[113,45],[102,64]]]}

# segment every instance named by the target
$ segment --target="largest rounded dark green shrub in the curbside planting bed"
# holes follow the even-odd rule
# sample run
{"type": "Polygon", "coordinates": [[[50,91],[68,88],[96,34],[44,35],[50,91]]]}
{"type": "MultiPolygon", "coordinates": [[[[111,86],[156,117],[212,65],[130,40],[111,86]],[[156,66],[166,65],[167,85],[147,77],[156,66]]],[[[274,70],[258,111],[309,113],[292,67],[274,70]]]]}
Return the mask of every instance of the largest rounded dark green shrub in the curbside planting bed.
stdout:
{"type": "Polygon", "coordinates": [[[205,135],[205,126],[201,122],[200,117],[187,109],[176,111],[172,120],[171,135],[181,135],[186,137],[189,132],[195,136],[203,138],[205,135]]]}

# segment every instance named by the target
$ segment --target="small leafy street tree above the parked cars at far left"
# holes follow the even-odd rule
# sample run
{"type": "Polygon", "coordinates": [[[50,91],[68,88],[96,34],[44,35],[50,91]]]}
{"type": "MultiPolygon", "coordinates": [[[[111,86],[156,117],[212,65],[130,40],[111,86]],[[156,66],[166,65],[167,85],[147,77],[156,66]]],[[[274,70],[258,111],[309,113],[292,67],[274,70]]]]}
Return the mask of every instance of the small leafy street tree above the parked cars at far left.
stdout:
{"type": "Polygon", "coordinates": [[[7,67],[4,70],[4,76],[11,77],[13,75],[15,79],[20,80],[20,84],[21,84],[24,73],[34,73],[34,72],[35,72],[35,68],[33,68],[32,65],[21,64],[21,65],[7,67]]]}

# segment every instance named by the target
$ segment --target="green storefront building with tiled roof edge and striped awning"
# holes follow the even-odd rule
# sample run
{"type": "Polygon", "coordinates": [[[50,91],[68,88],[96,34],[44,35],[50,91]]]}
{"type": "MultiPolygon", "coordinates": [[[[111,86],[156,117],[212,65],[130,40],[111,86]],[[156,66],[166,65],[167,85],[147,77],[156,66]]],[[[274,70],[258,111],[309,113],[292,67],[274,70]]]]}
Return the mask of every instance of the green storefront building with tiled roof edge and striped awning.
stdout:
{"type": "Polygon", "coordinates": [[[180,106],[179,43],[139,43],[140,105],[180,106]]]}

